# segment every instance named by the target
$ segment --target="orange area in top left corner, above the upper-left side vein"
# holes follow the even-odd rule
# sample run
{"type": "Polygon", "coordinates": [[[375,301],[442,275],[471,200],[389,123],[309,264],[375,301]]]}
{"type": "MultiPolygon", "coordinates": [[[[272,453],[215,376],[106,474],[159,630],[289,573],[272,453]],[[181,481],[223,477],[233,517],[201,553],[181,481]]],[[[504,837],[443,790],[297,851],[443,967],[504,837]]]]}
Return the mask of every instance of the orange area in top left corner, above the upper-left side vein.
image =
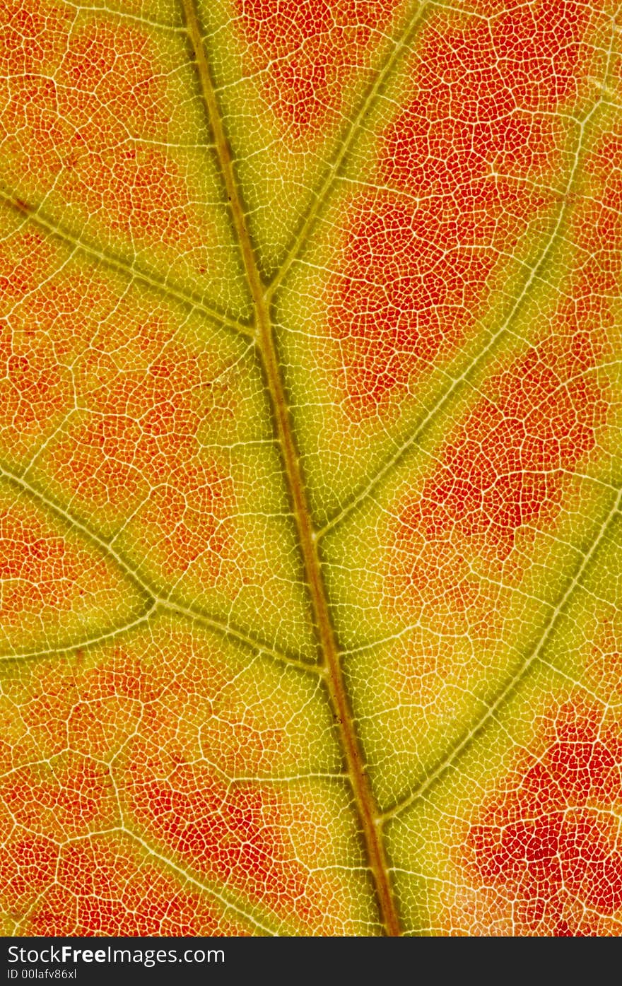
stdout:
{"type": "Polygon", "coordinates": [[[132,244],[204,257],[183,173],[157,146],[167,143],[173,107],[153,38],[136,24],[76,26],[74,18],[47,3],[25,10],[19,0],[0,12],[0,65],[11,80],[0,110],[5,178],[37,189],[59,182],[76,209],[132,244]]]}

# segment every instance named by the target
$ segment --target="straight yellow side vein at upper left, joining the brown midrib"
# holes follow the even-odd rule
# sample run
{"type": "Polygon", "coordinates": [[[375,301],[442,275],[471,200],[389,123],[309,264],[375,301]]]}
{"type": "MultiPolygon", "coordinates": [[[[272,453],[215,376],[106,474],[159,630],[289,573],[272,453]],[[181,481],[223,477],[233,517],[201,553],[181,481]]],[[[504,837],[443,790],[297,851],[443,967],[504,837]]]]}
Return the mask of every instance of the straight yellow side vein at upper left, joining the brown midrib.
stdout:
{"type": "Polygon", "coordinates": [[[192,295],[186,294],[181,288],[174,287],[168,281],[156,277],[154,274],[149,274],[139,267],[135,267],[132,263],[124,260],[122,257],[117,256],[114,253],[108,253],[106,250],[93,246],[90,243],[82,240],[79,236],[70,233],[63,227],[58,226],[56,223],[52,223],[50,220],[45,219],[36,209],[23,202],[16,195],[7,194],[5,191],[0,189],[0,201],[4,202],[10,208],[14,209],[20,215],[24,216],[29,222],[35,224],[40,229],[45,230],[51,236],[68,246],[77,247],[81,252],[85,253],[87,256],[99,260],[105,264],[106,267],[114,270],[116,273],[123,274],[125,277],[131,278],[132,281],[142,281],[144,284],[148,284],[149,287],[154,288],[159,294],[164,295],[166,298],[172,298],[177,302],[181,302],[187,308],[193,311],[200,312],[202,315],[209,316],[215,321],[220,322],[222,325],[226,325],[228,328],[233,328],[237,332],[241,332],[242,335],[252,338],[252,329],[248,325],[244,325],[243,322],[238,321],[236,318],[229,317],[223,312],[219,312],[216,308],[211,308],[204,302],[199,301],[197,298],[193,298],[192,295]]]}

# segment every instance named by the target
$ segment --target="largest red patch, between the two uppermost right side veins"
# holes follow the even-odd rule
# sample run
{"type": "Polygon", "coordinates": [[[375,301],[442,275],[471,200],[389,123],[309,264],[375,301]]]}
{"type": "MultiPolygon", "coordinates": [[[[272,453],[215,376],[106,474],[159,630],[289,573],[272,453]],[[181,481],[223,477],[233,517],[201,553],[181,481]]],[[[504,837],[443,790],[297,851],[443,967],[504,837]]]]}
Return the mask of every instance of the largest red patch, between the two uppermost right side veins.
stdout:
{"type": "Polygon", "coordinates": [[[377,181],[390,191],[350,203],[345,272],[330,288],[353,419],[477,332],[507,257],[555,207],[555,113],[576,95],[587,29],[586,9],[563,2],[466,26],[440,14],[426,29],[414,95],[381,138],[377,181]]]}

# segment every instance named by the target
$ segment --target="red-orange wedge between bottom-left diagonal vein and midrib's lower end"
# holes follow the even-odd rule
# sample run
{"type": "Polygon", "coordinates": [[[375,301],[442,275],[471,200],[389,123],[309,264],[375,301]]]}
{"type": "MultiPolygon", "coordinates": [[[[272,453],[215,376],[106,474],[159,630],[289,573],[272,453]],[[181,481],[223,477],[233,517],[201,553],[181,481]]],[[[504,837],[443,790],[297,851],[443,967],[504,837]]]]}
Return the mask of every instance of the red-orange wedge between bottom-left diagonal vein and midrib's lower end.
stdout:
{"type": "Polygon", "coordinates": [[[175,857],[307,934],[338,934],[339,881],[310,865],[313,851],[330,839],[328,819],[313,810],[310,795],[251,781],[232,786],[208,767],[163,757],[152,743],[135,743],[129,763],[132,814],[175,857]],[[299,862],[305,831],[307,859],[299,862]]]}

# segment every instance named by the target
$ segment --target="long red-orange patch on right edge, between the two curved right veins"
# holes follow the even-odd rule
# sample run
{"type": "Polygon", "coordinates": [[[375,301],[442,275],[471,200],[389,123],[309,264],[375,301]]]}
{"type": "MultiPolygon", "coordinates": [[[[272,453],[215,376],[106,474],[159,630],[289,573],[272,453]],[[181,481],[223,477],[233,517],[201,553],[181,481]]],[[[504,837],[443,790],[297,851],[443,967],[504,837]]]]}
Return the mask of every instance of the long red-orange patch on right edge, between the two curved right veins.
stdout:
{"type": "Polygon", "coordinates": [[[593,193],[569,224],[582,262],[550,334],[488,380],[421,491],[398,508],[399,551],[389,572],[396,597],[447,594],[468,579],[477,553],[503,563],[518,528],[554,519],[565,476],[597,449],[610,394],[595,369],[613,359],[607,337],[617,331],[611,302],[622,270],[622,137],[605,133],[586,171],[593,193]]]}

